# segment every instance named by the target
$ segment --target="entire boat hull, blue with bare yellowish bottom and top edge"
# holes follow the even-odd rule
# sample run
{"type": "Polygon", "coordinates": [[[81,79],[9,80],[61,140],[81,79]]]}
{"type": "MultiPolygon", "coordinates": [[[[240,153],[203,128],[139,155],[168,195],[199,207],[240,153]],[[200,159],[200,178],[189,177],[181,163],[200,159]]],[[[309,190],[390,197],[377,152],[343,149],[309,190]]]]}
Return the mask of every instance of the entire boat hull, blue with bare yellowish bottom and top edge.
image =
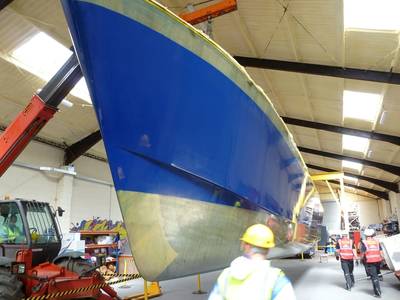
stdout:
{"type": "Polygon", "coordinates": [[[273,256],[306,247],[304,163],[229,55],[152,1],[62,3],[144,277],[224,267],[258,222],[279,224],[273,256]]]}

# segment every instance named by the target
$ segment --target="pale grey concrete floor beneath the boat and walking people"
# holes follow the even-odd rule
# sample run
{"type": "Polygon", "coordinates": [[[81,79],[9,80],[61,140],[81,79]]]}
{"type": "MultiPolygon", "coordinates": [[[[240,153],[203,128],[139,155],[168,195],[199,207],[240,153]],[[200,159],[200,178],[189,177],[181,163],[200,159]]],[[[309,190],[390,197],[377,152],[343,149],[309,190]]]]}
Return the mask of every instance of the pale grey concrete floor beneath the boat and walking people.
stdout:
{"type": "MultiPolygon", "coordinates": [[[[319,258],[276,260],[273,265],[283,269],[291,279],[297,300],[358,300],[376,299],[372,296],[372,285],[369,280],[357,281],[365,277],[362,265],[355,267],[354,276],[356,286],[351,292],[344,289],[343,272],[340,264],[333,257],[328,262],[319,262],[319,258]]],[[[386,270],[383,270],[383,273],[386,270]]],[[[220,272],[212,272],[201,275],[202,289],[212,289],[220,272]]],[[[163,281],[160,283],[163,295],[160,300],[203,300],[208,295],[193,295],[192,291],[197,288],[197,277],[191,276],[181,279],[163,281]]],[[[400,299],[400,281],[393,275],[386,275],[381,282],[382,299],[400,299]]]]}

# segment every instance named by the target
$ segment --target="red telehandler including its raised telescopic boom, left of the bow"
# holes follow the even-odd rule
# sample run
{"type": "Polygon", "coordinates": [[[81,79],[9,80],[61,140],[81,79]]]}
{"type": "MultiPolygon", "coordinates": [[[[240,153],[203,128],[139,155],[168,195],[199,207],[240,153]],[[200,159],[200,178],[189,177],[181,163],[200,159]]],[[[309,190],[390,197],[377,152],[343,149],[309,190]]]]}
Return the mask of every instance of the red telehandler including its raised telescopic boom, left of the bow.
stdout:
{"type": "MultiPolygon", "coordinates": [[[[26,108],[0,135],[0,177],[26,145],[57,112],[57,107],[82,77],[75,54],[35,93],[26,108]]],[[[62,209],[58,209],[61,216],[62,209]]],[[[57,256],[61,234],[48,203],[34,200],[0,202],[0,300],[118,299],[104,278],[81,258],[57,256]],[[55,295],[55,296],[53,296],[55,295]]]]}

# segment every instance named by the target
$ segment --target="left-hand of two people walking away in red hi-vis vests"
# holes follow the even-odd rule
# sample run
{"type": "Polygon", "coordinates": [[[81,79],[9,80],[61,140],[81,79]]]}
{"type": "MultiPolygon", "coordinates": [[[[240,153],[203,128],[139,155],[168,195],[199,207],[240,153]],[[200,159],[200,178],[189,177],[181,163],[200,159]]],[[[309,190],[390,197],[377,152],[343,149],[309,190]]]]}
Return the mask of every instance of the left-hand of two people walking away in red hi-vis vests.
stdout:
{"type": "Polygon", "coordinates": [[[357,258],[353,240],[349,239],[347,233],[342,234],[336,243],[336,260],[339,260],[346,280],[346,290],[350,291],[354,286],[354,258],[357,258]]]}

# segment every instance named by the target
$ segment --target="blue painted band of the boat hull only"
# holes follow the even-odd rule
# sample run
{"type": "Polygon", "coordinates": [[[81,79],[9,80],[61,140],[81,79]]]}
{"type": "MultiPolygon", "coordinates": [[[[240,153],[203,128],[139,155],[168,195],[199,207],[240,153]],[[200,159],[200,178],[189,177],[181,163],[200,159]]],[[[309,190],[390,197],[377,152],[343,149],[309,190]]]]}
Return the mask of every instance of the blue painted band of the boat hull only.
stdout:
{"type": "Polygon", "coordinates": [[[169,195],[173,186],[176,196],[236,202],[210,199],[179,168],[251,200],[244,205],[291,218],[302,166],[241,89],[152,29],[100,6],[74,3],[72,33],[118,190],[169,195]]]}

